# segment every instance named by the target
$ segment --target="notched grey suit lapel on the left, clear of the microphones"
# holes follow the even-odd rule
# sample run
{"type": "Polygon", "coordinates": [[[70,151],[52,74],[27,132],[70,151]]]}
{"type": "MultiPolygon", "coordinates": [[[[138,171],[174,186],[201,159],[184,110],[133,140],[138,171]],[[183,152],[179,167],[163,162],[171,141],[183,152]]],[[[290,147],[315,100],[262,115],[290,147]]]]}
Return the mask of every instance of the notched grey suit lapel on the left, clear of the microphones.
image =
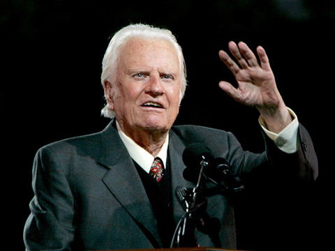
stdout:
{"type": "Polygon", "coordinates": [[[110,169],[103,176],[103,183],[133,220],[147,229],[161,245],[158,227],[152,224],[156,222],[154,212],[141,178],[112,123],[101,132],[102,151],[99,162],[110,169]]]}

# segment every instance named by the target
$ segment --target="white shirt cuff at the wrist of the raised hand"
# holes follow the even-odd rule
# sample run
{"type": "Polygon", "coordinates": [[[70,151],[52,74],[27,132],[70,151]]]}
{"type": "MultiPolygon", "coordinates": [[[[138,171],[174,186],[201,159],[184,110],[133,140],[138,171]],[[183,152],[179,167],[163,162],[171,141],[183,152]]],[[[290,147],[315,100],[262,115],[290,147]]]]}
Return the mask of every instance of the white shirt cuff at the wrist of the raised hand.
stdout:
{"type": "Polygon", "coordinates": [[[267,129],[267,126],[262,116],[259,117],[258,122],[260,123],[260,126],[265,131],[267,136],[272,139],[272,141],[276,144],[278,149],[281,149],[281,151],[285,153],[295,153],[297,151],[297,133],[299,128],[299,122],[297,115],[295,114],[295,112],[292,111],[292,109],[288,108],[288,112],[290,112],[293,120],[278,134],[271,132],[267,129]]]}

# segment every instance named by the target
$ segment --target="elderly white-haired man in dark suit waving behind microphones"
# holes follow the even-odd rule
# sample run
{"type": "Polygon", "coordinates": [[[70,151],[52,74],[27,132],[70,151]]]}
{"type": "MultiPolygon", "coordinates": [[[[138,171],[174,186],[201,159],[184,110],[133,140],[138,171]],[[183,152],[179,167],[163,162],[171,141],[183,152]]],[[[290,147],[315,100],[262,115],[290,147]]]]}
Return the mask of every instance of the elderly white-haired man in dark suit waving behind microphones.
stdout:
{"type": "MultiPolygon", "coordinates": [[[[183,178],[181,159],[193,142],[228,160],[238,175],[260,166],[279,168],[288,160],[288,176],[313,181],[318,175],[313,144],[285,107],[265,50],[257,48],[259,64],[245,43],[231,42],[229,49],[240,66],[226,52],[219,56],[238,88],[228,82],[219,86],[260,111],[267,152],[243,151],[230,132],[172,126],[186,89],[181,48],[168,30],[126,26],[103,59],[102,113],[115,118],[102,132],[49,144],[36,154],[35,196],[24,228],[27,250],[168,248],[184,214],[174,190],[194,186],[183,178]]],[[[220,220],[221,229],[215,240],[198,231],[198,244],[236,248],[229,199],[209,197],[207,213],[220,220]]]]}

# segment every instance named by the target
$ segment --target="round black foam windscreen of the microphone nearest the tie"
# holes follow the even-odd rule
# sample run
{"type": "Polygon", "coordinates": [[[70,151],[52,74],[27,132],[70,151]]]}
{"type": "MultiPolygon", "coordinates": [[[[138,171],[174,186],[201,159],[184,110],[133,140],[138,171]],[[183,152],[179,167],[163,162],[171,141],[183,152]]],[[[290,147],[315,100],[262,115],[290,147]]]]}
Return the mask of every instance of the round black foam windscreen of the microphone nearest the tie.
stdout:
{"type": "Polygon", "coordinates": [[[191,169],[198,168],[203,157],[207,160],[214,158],[211,150],[201,143],[189,144],[183,153],[184,164],[191,169]]]}

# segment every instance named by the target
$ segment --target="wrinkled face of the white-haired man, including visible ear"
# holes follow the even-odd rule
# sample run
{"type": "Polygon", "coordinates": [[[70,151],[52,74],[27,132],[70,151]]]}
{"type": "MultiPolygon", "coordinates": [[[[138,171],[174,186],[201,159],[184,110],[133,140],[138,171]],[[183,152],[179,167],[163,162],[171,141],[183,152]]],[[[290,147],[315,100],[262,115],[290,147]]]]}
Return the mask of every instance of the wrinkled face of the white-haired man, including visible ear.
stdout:
{"type": "Polygon", "coordinates": [[[119,56],[115,88],[108,102],[125,132],[170,130],[180,103],[177,52],[165,40],[129,40],[119,56]]]}

